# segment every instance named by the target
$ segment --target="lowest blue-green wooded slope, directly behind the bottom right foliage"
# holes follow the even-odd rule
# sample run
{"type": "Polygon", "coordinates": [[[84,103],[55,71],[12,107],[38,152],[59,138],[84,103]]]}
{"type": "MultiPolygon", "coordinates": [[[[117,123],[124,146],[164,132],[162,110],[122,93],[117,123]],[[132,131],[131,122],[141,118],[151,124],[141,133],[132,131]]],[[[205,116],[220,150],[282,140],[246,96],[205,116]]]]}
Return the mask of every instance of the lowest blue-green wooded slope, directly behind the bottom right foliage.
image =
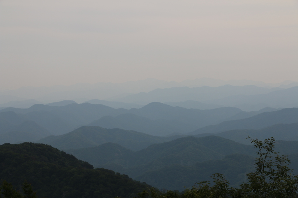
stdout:
{"type": "Polygon", "coordinates": [[[210,175],[223,173],[231,185],[245,182],[245,174],[253,170],[254,159],[249,155],[232,154],[223,159],[209,160],[192,166],[171,164],[139,175],[136,180],[146,181],[157,188],[185,190],[198,181],[210,180],[210,175]]]}

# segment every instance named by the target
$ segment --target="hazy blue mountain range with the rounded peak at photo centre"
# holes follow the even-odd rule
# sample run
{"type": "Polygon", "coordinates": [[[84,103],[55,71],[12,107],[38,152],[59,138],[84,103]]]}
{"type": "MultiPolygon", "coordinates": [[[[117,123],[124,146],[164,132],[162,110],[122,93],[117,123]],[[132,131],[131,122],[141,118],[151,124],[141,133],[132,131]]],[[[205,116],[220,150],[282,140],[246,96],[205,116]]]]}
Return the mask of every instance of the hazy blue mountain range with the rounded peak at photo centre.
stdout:
{"type": "Polygon", "coordinates": [[[229,117],[235,118],[235,115],[242,112],[240,109],[233,107],[223,107],[210,110],[185,109],[182,107],[172,107],[163,103],[150,103],[140,109],[114,109],[100,104],[90,103],[72,103],[66,106],[48,106],[36,104],[28,109],[6,108],[0,112],[13,111],[24,115],[26,120],[32,120],[41,125],[53,135],[60,135],[72,131],[82,125],[90,125],[94,120],[99,120],[104,116],[116,117],[121,114],[135,114],[134,118],[142,119],[137,123],[133,118],[122,116],[122,120],[126,119],[127,123],[121,123],[120,117],[105,117],[94,125],[100,125],[107,128],[121,127],[128,130],[140,130],[148,134],[157,135],[165,127],[169,127],[167,131],[159,135],[167,135],[170,133],[186,133],[195,128],[204,127],[211,124],[218,124],[222,120],[229,120],[229,117]],[[144,119],[144,118],[149,118],[144,119]],[[107,120],[106,118],[109,118],[107,120]],[[104,119],[106,119],[104,121],[104,119]],[[113,121],[111,121],[113,120],[113,121]],[[159,124],[158,124],[159,123],[159,124]],[[125,124],[125,125],[124,125],[125,124]],[[157,126],[154,126],[158,124],[157,126]],[[181,126],[178,126],[178,125],[181,126]],[[150,127],[148,127],[150,126],[150,127]],[[158,131],[156,131],[156,129],[158,131]]]}

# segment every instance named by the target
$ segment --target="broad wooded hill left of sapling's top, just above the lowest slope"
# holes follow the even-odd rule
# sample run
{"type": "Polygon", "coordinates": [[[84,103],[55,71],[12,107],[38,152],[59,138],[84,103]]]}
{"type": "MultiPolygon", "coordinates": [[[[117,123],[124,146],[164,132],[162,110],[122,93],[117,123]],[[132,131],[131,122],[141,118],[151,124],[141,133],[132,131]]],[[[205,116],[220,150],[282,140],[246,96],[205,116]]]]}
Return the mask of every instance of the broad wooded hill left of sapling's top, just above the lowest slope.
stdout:
{"type": "Polygon", "coordinates": [[[220,159],[232,153],[252,155],[252,146],[239,144],[218,136],[179,138],[170,142],[153,144],[136,152],[135,165],[146,164],[159,159],[165,165],[194,164],[211,159],[220,159]]]}

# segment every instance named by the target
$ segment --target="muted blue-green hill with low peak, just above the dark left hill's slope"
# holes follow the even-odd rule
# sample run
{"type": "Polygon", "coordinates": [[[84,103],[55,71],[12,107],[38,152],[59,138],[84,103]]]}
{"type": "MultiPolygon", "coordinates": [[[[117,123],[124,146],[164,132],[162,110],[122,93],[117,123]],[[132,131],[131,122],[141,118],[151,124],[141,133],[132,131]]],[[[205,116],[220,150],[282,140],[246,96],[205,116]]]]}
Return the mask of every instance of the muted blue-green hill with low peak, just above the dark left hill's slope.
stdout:
{"type": "Polygon", "coordinates": [[[39,143],[49,144],[62,150],[94,147],[106,142],[113,142],[131,150],[141,150],[151,144],[166,142],[169,138],[151,136],[136,131],[123,129],[104,129],[98,126],[83,126],[60,136],[48,136],[39,143]]]}

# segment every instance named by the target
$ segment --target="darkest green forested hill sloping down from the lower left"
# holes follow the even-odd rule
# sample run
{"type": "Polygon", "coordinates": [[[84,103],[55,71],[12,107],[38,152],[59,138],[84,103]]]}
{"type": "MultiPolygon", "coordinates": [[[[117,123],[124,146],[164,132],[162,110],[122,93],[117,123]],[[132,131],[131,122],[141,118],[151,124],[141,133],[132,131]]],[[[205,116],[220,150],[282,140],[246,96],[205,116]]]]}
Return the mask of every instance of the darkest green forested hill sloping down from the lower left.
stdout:
{"type": "Polygon", "coordinates": [[[93,169],[45,144],[3,144],[0,165],[1,179],[13,186],[27,180],[40,197],[132,197],[148,186],[111,170],[93,169]]]}

